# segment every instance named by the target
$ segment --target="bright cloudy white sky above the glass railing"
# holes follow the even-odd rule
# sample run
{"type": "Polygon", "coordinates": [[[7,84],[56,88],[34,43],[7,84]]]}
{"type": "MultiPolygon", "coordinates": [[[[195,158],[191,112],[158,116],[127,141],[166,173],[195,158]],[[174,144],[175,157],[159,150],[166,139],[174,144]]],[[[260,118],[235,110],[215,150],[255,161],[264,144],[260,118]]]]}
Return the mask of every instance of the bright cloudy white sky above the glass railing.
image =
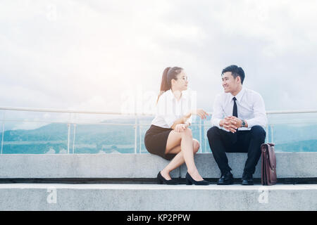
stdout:
{"type": "Polygon", "coordinates": [[[266,110],[317,109],[317,1],[0,1],[0,106],[120,112],[185,69],[212,111],[221,70],[266,110]]]}

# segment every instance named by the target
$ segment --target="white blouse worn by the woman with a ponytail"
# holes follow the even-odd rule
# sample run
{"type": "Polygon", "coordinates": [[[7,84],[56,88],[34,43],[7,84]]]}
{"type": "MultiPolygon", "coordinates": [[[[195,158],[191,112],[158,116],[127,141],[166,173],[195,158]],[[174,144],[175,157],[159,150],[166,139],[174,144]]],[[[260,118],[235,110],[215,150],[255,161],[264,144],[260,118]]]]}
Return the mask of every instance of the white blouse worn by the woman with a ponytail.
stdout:
{"type": "MultiPolygon", "coordinates": [[[[156,117],[152,120],[151,124],[170,128],[175,120],[183,117],[196,105],[194,99],[189,91],[182,91],[182,96],[178,101],[171,90],[165,91],[160,97],[156,105],[156,117]]],[[[192,116],[189,117],[187,122],[192,123],[192,116]]]]}

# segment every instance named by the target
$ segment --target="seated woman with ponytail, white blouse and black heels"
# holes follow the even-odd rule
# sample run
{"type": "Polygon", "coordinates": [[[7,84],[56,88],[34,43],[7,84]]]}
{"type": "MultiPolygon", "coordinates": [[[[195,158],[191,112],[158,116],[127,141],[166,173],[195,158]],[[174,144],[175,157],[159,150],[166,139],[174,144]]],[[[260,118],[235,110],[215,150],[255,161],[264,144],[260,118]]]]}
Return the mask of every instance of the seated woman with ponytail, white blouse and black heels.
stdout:
{"type": "Polygon", "coordinates": [[[194,153],[199,141],[192,138],[189,129],[192,115],[206,119],[204,110],[190,110],[187,90],[188,79],[182,68],[166,68],[161,82],[161,93],[156,105],[156,117],[144,136],[149,153],[159,155],[170,163],[157,175],[158,184],[178,184],[170,172],[184,162],[187,166],[186,184],[209,185],[199,174],[194,163],[194,153]]]}

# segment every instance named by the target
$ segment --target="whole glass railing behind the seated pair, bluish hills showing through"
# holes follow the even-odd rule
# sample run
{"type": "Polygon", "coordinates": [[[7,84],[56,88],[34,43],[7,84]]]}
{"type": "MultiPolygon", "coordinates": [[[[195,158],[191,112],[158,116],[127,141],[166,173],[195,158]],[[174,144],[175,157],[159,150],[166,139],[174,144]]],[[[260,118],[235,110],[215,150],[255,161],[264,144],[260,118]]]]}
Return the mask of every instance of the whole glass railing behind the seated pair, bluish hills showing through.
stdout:
{"type": "MultiPolygon", "coordinates": [[[[154,116],[49,111],[0,110],[1,153],[147,153],[144,135],[154,116]]],[[[199,153],[211,153],[210,120],[192,121],[199,153]]],[[[276,151],[316,152],[316,113],[268,113],[266,142],[275,143],[276,151]]]]}

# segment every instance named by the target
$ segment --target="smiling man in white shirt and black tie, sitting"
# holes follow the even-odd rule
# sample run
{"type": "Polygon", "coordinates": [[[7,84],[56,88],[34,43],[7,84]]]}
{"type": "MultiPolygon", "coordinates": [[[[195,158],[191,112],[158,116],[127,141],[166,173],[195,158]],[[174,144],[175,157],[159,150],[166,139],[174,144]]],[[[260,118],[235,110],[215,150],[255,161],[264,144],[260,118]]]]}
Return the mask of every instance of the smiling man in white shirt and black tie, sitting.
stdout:
{"type": "Polygon", "coordinates": [[[266,110],[256,91],[244,89],[244,71],[230,65],[221,73],[225,93],[216,96],[207,132],[209,146],[221,172],[218,185],[233,184],[227,153],[248,153],[242,185],[253,185],[253,174],[266,139],[266,110]]]}

